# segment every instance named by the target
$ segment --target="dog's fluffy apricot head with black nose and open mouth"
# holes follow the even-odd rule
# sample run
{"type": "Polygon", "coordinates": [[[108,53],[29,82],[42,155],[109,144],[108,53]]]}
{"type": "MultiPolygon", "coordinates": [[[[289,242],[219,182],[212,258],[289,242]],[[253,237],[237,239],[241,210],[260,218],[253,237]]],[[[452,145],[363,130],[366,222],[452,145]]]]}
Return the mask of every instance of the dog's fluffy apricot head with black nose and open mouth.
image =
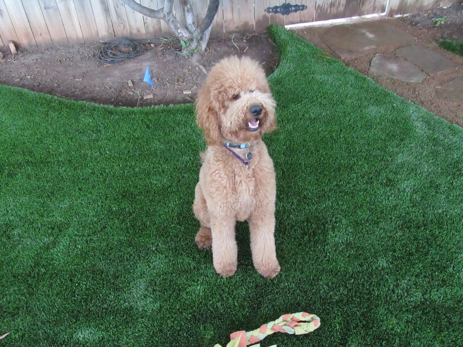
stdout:
{"type": "Polygon", "coordinates": [[[196,123],[208,145],[252,142],[275,130],[275,100],[263,68],[237,56],[214,65],[198,93],[196,123]]]}

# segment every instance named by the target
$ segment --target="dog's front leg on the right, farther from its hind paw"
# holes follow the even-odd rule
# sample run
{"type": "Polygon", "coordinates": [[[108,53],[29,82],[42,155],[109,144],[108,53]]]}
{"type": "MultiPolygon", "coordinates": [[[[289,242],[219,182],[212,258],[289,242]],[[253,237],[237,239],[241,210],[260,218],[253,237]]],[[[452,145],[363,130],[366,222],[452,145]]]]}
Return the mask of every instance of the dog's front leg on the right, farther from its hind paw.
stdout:
{"type": "Polygon", "coordinates": [[[280,272],[275,251],[275,215],[273,209],[261,209],[249,219],[252,262],[266,279],[273,279],[280,272]]]}

